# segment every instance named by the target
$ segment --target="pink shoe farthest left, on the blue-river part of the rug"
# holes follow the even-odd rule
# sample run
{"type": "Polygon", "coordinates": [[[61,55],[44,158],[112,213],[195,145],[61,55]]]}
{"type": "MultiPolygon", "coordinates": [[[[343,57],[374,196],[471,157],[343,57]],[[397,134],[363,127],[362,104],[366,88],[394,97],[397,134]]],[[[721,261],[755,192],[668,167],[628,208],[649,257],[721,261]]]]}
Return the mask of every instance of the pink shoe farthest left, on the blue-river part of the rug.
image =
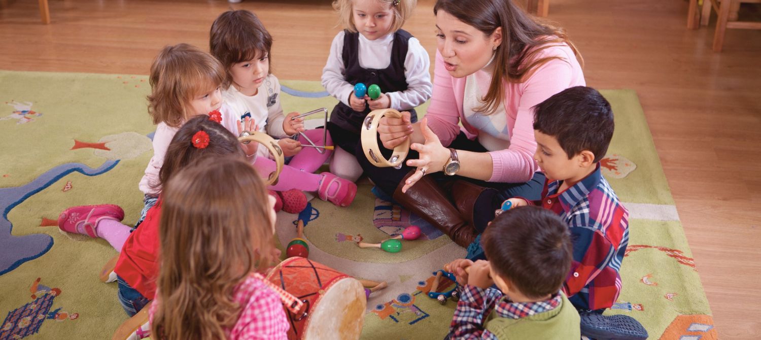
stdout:
{"type": "Polygon", "coordinates": [[[124,211],[119,205],[80,205],[67,208],[58,217],[58,227],[67,233],[97,237],[95,228],[103,219],[122,221],[124,211]]]}

